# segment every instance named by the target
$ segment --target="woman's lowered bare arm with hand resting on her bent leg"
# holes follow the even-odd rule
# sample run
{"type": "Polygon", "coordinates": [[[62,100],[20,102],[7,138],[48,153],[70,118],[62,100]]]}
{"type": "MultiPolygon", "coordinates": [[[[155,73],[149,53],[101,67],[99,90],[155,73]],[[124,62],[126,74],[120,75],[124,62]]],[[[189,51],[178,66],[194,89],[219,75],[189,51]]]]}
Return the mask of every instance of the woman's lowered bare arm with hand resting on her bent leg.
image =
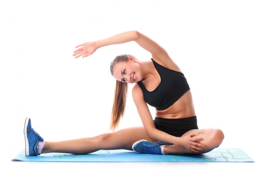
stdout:
{"type": "Polygon", "coordinates": [[[177,144],[183,146],[184,148],[193,150],[195,152],[199,152],[201,150],[201,148],[199,147],[202,147],[202,144],[199,144],[196,141],[200,141],[202,139],[192,138],[197,134],[190,134],[184,137],[175,137],[155,128],[154,121],[152,119],[148,106],[143,98],[143,93],[139,88],[138,84],[135,84],[134,88],[132,89],[132,97],[137,107],[142,124],[151,138],[169,144],[177,144]]]}

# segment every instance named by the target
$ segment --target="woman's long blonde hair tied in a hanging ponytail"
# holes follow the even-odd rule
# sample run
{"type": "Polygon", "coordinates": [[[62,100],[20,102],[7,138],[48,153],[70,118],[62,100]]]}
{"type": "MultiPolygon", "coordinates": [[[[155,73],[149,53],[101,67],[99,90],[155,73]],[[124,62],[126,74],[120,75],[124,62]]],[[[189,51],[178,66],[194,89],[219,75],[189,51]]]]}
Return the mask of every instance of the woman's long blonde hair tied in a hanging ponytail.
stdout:
{"type": "MultiPolygon", "coordinates": [[[[128,62],[128,57],[134,57],[133,55],[118,55],[115,57],[115,59],[110,64],[110,72],[113,76],[113,70],[115,67],[115,64],[120,62],[128,62]]],[[[135,57],[134,57],[135,58],[135,57]]],[[[114,92],[114,101],[113,101],[113,107],[112,107],[112,114],[111,114],[111,120],[110,120],[110,130],[115,131],[116,128],[119,125],[119,121],[121,117],[123,117],[126,107],[126,99],[127,99],[127,92],[128,92],[128,83],[120,82],[119,80],[116,80],[116,87],[114,92]]]]}

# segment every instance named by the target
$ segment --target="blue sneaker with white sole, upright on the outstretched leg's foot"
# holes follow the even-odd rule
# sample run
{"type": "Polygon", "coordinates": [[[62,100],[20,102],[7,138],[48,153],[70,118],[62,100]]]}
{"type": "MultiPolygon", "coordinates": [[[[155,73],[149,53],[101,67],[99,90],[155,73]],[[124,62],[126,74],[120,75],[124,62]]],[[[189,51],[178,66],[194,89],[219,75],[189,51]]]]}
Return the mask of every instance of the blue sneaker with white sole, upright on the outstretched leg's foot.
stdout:
{"type": "Polygon", "coordinates": [[[39,155],[36,151],[38,141],[43,141],[43,138],[31,127],[31,120],[26,117],[24,125],[24,136],[25,136],[25,149],[26,156],[37,156],[39,155]]]}

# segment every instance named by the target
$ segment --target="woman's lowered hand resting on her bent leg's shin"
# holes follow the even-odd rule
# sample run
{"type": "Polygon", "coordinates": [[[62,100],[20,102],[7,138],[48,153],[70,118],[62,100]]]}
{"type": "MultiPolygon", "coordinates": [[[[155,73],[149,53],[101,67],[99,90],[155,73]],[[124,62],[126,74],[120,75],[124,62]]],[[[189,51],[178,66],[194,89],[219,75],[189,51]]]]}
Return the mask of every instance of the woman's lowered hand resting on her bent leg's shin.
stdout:
{"type": "Polygon", "coordinates": [[[193,136],[197,136],[198,134],[192,133],[190,135],[186,135],[184,137],[180,137],[178,145],[183,146],[189,150],[193,150],[194,152],[200,152],[204,150],[205,146],[203,144],[198,143],[198,141],[204,140],[201,138],[192,138],[193,136]]]}

